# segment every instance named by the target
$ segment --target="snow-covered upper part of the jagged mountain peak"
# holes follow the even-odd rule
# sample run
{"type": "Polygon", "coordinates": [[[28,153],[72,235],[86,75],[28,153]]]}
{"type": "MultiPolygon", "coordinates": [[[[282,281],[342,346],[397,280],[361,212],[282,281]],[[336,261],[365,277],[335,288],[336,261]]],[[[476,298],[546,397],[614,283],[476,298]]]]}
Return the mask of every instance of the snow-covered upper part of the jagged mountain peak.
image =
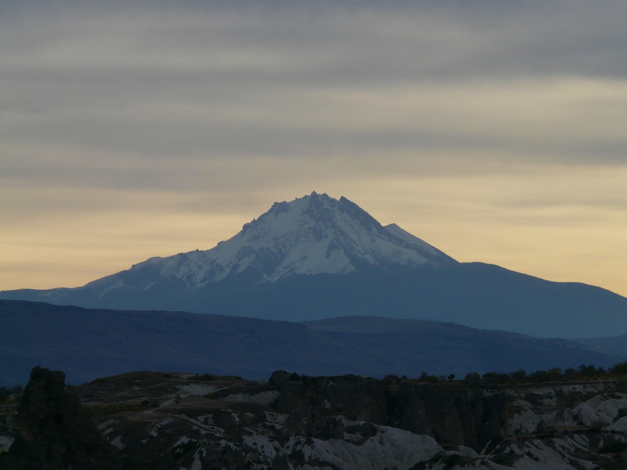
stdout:
{"type": "Polygon", "coordinates": [[[345,274],[364,264],[415,268],[450,263],[456,261],[396,224],[382,226],[345,197],[338,201],[312,192],[294,201],[275,202],[212,249],[150,258],[130,271],[150,271],[152,281],[144,288],[172,277],[193,288],[246,270],[258,282],[271,282],[290,274],[345,274]]]}

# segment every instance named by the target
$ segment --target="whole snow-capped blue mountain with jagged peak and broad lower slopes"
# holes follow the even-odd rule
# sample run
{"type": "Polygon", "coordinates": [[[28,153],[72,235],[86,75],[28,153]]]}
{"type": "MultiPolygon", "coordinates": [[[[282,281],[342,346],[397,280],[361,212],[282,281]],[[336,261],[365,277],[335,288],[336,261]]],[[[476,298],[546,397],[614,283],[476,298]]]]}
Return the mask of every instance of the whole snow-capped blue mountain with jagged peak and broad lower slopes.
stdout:
{"type": "Polygon", "coordinates": [[[206,251],[150,258],[80,288],[1,298],[305,321],[374,315],[539,337],[627,333],[627,298],[483,263],[458,263],[344,197],[275,203],[206,251]]]}

